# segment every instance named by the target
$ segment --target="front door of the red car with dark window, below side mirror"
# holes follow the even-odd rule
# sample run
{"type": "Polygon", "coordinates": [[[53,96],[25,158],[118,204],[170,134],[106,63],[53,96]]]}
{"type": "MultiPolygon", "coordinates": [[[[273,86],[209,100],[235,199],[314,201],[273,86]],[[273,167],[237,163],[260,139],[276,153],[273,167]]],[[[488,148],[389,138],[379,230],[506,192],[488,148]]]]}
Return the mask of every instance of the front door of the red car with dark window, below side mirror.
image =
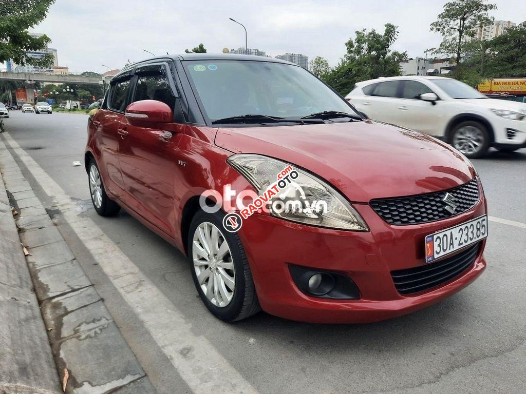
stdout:
{"type": "MultiPolygon", "coordinates": [[[[168,64],[140,66],[135,74],[130,102],[157,100],[174,111],[177,93],[168,64]]],[[[119,158],[130,206],[163,232],[174,234],[178,133],[127,122],[124,129],[125,136],[119,140],[119,158]]]]}

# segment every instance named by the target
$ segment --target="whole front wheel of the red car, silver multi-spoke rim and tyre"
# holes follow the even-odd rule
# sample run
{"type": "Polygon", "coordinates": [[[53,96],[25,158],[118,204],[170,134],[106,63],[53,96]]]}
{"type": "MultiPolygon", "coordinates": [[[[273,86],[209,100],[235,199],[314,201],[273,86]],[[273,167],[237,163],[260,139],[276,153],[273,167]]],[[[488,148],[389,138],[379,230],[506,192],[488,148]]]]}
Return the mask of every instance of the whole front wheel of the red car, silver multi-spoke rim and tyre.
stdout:
{"type": "Polygon", "coordinates": [[[236,322],[261,309],[245,250],[236,233],[227,232],[224,214],[198,211],[188,234],[188,260],[197,292],[221,320],[236,322]]]}

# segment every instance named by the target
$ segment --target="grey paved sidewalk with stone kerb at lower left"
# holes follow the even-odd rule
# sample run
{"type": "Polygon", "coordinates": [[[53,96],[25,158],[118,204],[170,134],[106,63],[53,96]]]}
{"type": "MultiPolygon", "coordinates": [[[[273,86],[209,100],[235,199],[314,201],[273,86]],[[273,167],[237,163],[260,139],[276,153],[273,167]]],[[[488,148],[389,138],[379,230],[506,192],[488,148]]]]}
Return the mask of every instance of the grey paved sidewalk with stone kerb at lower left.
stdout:
{"type": "Polygon", "coordinates": [[[0,282],[6,277],[11,283],[5,286],[7,293],[1,293],[0,318],[5,316],[3,321],[8,324],[0,323],[0,354],[5,349],[13,356],[5,359],[2,354],[0,358],[0,394],[61,393],[66,370],[66,393],[154,394],[154,387],[103,300],[24,178],[5,141],[0,134],[0,282]],[[9,203],[18,211],[16,225],[9,203]],[[21,241],[30,253],[27,257],[21,241]],[[24,288],[27,294],[14,294],[13,286],[24,288]],[[9,305],[4,298],[9,297],[23,300],[23,307],[30,305],[31,314],[24,315],[21,307],[4,313],[9,305]],[[26,305],[27,299],[31,303],[26,305]],[[4,371],[8,372],[5,377],[4,371]],[[12,389],[13,385],[17,386],[12,389]],[[29,389],[23,391],[18,386],[29,389]]]}

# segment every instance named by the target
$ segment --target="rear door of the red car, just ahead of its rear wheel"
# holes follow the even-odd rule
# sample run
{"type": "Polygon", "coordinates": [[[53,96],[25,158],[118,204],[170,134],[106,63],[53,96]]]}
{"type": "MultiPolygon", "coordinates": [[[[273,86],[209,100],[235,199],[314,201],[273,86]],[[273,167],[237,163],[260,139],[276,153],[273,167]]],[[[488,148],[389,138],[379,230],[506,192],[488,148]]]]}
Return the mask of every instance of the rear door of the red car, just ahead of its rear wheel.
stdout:
{"type": "Polygon", "coordinates": [[[120,174],[119,141],[122,139],[123,127],[126,125],[124,110],[128,103],[131,74],[111,82],[107,100],[94,117],[94,126],[100,128],[100,163],[105,172],[106,187],[113,194],[122,196],[125,190],[123,177],[120,174]],[[121,191],[119,193],[119,191],[121,191]]]}

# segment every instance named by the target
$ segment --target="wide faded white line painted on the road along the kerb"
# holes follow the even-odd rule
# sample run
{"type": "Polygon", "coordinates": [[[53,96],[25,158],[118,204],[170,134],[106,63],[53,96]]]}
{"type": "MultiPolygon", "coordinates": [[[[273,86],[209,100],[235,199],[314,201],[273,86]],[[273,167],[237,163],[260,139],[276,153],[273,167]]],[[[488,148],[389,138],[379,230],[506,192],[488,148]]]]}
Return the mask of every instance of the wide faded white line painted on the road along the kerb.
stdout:
{"type": "Polygon", "coordinates": [[[95,222],[88,217],[78,215],[78,204],[69,198],[40,165],[8,133],[4,133],[3,136],[42,186],[44,192],[55,198],[57,208],[64,215],[66,222],[93,255],[190,389],[196,394],[210,392],[257,394],[254,387],[205,337],[193,334],[192,326],[186,321],[185,316],[140,272],[120,248],[108,237],[99,236],[103,231],[95,222]]]}

